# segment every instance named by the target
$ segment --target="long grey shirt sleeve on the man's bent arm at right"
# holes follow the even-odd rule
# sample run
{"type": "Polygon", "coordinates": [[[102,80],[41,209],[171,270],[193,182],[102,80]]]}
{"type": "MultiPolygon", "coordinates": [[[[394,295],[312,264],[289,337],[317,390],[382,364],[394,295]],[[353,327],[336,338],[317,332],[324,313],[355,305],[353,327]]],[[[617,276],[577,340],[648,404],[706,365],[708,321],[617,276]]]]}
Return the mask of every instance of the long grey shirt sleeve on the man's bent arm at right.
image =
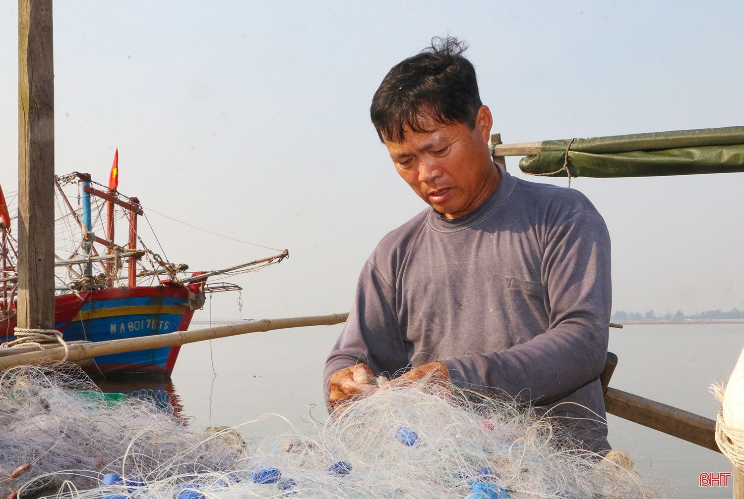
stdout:
{"type": "MultiPolygon", "coordinates": [[[[545,231],[541,278],[548,330],[503,351],[442,359],[455,385],[496,387],[539,405],[561,399],[603,371],[612,307],[609,233],[583,209],[545,231]]],[[[488,332],[484,332],[487,334],[488,332]]]]}

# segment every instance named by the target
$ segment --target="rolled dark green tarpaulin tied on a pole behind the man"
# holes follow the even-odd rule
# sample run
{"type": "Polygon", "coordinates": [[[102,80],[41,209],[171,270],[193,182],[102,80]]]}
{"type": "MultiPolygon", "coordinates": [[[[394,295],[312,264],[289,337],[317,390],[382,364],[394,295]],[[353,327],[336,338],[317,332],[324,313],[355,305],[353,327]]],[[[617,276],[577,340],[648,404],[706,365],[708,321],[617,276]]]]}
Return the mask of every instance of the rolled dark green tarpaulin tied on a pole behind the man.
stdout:
{"type": "Polygon", "coordinates": [[[744,172],[744,126],[545,140],[538,154],[522,158],[519,169],[530,175],[566,177],[567,148],[571,177],[744,172]]]}

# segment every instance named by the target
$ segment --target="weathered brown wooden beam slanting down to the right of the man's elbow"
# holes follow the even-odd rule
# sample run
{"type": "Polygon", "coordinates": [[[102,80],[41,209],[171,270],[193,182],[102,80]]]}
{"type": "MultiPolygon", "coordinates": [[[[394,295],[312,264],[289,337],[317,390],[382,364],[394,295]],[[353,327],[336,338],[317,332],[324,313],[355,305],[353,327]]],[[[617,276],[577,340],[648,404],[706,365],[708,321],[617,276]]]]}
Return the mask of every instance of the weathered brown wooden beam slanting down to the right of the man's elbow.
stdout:
{"type": "Polygon", "coordinates": [[[715,438],[716,422],[707,417],[616,388],[607,388],[605,407],[609,414],[720,452],[715,438]]]}

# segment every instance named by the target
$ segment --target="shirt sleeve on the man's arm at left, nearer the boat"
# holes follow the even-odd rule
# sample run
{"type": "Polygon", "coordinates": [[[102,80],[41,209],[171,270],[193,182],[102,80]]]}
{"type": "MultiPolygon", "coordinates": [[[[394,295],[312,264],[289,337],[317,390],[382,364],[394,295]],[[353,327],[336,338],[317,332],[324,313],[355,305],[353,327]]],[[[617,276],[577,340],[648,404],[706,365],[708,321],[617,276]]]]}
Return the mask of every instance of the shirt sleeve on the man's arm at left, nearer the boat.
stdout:
{"type": "Polygon", "coordinates": [[[323,371],[325,393],[330,376],[363,362],[375,374],[390,377],[405,368],[412,345],[403,341],[395,307],[394,287],[367,261],[359,275],[349,318],[333,346],[323,371]]]}

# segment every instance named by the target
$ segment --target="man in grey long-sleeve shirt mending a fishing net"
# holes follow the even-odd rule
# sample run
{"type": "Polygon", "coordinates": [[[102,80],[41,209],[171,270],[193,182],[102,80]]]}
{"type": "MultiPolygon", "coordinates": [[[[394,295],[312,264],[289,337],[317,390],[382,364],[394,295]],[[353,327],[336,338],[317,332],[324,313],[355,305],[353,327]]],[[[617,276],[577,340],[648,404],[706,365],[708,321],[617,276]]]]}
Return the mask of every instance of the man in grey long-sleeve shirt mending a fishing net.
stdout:
{"type": "Polygon", "coordinates": [[[528,402],[575,443],[606,451],[606,225],[580,192],[493,163],[493,118],[465,49],[434,38],[374,94],[379,138],[430,207],[362,268],[325,365],[330,405],[373,393],[372,376],[426,377],[528,402]]]}

